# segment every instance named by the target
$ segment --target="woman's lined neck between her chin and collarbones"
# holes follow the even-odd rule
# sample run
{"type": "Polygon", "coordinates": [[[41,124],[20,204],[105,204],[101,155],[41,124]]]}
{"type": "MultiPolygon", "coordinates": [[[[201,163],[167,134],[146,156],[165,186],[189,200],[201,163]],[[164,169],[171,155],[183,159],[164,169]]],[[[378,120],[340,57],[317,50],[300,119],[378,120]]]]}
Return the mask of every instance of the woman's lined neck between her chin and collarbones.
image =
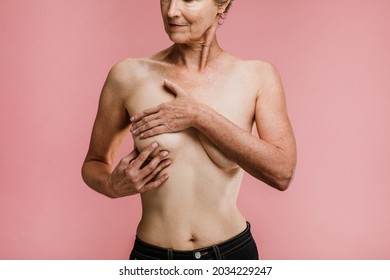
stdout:
{"type": "Polygon", "coordinates": [[[171,58],[190,71],[201,72],[216,58],[222,49],[216,38],[218,21],[210,27],[201,41],[177,44],[171,49],[171,58]]]}

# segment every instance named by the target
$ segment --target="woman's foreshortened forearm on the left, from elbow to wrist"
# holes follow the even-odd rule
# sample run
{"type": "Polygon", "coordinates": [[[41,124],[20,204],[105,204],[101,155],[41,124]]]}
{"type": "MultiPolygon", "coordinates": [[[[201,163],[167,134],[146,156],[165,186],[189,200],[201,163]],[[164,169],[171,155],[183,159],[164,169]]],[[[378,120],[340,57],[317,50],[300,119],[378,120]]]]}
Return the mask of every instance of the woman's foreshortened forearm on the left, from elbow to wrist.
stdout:
{"type": "Polygon", "coordinates": [[[85,161],[81,170],[84,182],[93,190],[113,198],[108,188],[108,179],[110,177],[110,167],[99,161],[85,161]]]}

